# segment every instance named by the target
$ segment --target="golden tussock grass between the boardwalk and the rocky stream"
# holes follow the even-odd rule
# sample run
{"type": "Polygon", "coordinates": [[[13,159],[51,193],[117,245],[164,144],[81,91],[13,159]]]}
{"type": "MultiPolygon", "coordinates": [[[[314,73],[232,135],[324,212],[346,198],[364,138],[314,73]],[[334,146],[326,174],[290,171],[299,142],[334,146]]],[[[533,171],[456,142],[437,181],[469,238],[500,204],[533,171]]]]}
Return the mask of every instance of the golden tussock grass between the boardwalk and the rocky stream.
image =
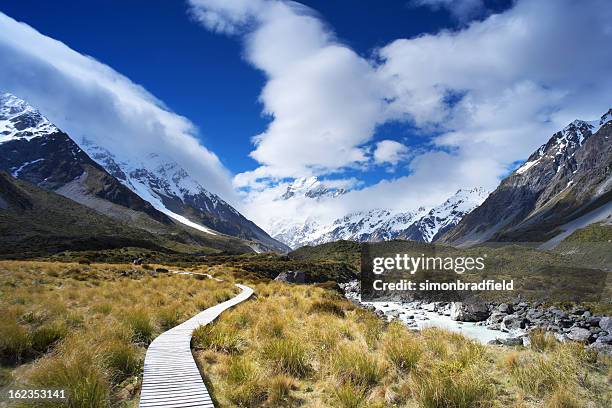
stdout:
{"type": "Polygon", "coordinates": [[[202,338],[194,341],[221,407],[610,405],[610,366],[582,346],[508,351],[441,329],[411,332],[355,308],[333,290],[250,285],[256,298],[198,329],[202,338]],[[240,347],[226,346],[232,342],[225,339],[235,336],[240,347]],[[573,399],[560,405],[564,389],[573,399]]]}

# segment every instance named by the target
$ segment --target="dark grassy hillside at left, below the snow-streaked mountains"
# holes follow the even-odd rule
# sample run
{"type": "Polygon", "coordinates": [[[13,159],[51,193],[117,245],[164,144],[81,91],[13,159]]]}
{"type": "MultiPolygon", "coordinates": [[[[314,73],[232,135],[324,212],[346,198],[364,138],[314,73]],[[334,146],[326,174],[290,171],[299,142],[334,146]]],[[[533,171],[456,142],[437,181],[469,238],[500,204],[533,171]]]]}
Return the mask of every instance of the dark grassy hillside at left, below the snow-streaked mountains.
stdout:
{"type": "MultiPolygon", "coordinates": [[[[126,210],[127,211],[127,210],[126,210]]],[[[160,253],[252,252],[247,242],[171,222],[134,228],[59,194],[0,173],[0,257],[32,258],[62,251],[138,247],[160,253]]]]}

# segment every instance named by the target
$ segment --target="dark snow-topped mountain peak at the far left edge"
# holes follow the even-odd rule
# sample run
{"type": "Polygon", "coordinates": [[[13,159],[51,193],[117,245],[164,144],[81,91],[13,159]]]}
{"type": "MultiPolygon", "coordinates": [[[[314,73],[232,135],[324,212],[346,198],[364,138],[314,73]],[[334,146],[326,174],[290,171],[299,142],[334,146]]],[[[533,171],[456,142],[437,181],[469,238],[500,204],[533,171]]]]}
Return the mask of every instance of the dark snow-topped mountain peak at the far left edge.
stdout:
{"type": "Polygon", "coordinates": [[[11,94],[0,95],[0,129],[0,170],[88,207],[122,213],[126,219],[144,213],[162,224],[170,222],[40,112],[11,94]],[[135,213],[128,215],[128,210],[135,213]]]}

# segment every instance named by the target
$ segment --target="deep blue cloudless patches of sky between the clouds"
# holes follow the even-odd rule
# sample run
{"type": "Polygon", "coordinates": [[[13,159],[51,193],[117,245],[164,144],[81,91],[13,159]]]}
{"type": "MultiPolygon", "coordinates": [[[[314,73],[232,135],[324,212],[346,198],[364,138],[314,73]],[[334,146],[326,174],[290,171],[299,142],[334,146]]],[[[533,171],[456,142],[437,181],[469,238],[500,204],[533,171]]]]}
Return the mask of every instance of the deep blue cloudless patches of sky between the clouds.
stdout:
{"type": "MultiPolygon", "coordinates": [[[[340,41],[362,55],[396,38],[463,24],[448,10],[411,7],[405,0],[303,3],[320,13],[340,41]]],[[[503,10],[508,3],[500,0],[487,5],[503,10]]],[[[0,11],[144,86],[170,109],[193,121],[202,142],[233,173],[257,165],[248,154],[250,138],[269,122],[258,102],[265,78],[242,58],[240,41],[203,30],[188,17],[186,3],[22,0],[4,2],[0,11]]],[[[395,123],[381,126],[375,138],[406,141],[411,134],[409,126],[395,123]]],[[[366,183],[389,177],[380,167],[348,173],[366,183]]]]}

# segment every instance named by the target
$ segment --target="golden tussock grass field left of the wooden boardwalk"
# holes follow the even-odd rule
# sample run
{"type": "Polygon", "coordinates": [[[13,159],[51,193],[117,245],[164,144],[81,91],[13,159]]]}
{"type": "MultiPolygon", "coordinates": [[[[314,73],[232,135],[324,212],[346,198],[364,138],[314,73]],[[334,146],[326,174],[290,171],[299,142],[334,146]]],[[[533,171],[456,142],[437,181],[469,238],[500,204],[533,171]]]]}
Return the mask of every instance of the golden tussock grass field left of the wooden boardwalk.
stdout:
{"type": "Polygon", "coordinates": [[[124,406],[146,345],[196,314],[202,294],[214,304],[236,292],[132,265],[2,261],[0,386],[63,388],[70,407],[124,406]]]}

